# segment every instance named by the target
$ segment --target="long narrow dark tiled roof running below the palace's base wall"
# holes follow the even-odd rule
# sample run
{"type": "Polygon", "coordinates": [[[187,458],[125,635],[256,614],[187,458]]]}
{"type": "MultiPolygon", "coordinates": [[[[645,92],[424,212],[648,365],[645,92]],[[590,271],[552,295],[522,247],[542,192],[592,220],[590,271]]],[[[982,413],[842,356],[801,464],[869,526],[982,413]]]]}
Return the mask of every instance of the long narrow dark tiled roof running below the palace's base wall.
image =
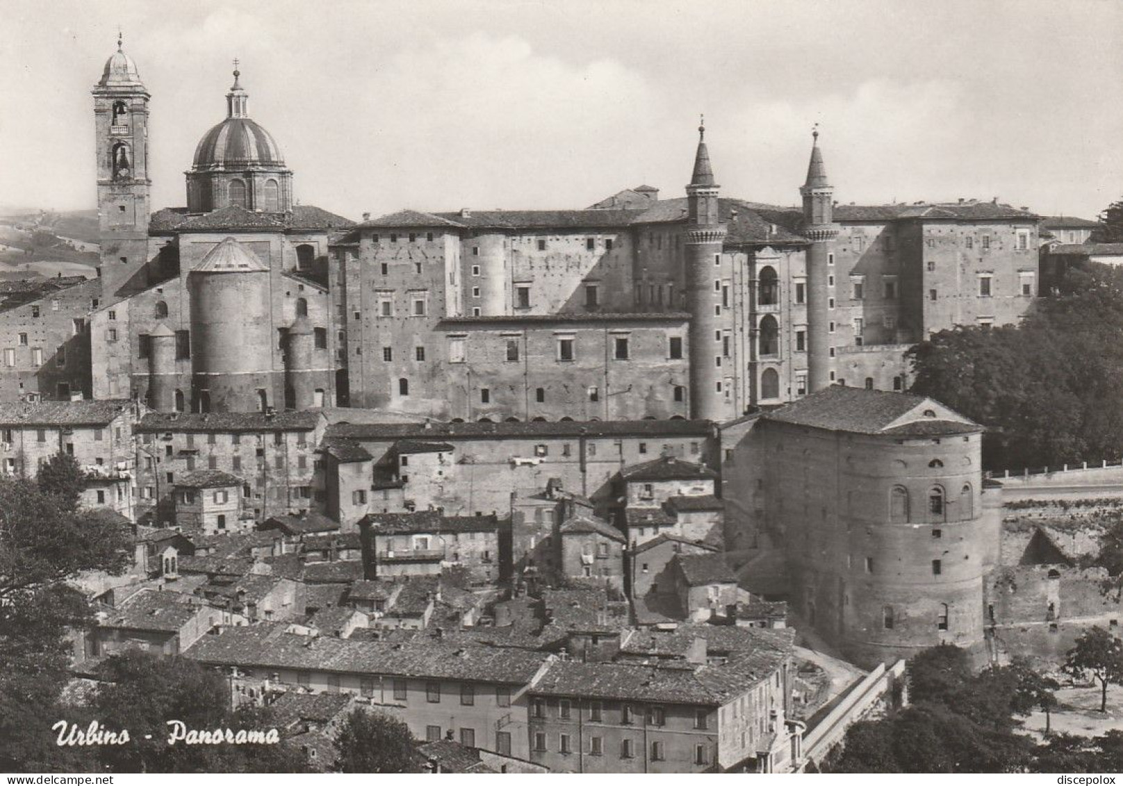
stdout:
{"type": "MultiPolygon", "coordinates": [[[[147,420],[147,418],[145,419],[147,420]]],[[[564,420],[526,423],[334,423],[329,439],[481,439],[522,437],[696,436],[710,433],[707,420],[564,420]]],[[[159,429],[153,429],[159,430],[159,429]]]]}

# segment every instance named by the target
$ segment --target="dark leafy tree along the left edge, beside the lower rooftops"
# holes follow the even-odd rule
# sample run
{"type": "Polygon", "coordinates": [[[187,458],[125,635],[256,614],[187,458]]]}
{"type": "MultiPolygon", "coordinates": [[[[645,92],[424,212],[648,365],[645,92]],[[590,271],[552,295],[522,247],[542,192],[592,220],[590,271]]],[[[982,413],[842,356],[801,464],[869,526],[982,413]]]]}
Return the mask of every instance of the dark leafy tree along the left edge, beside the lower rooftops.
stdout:
{"type": "Polygon", "coordinates": [[[35,769],[63,755],[51,743],[62,714],[70,630],[90,623],[66,583],[84,570],[120,573],[127,531],[67,508],[27,479],[0,478],[0,766],[35,769]]]}

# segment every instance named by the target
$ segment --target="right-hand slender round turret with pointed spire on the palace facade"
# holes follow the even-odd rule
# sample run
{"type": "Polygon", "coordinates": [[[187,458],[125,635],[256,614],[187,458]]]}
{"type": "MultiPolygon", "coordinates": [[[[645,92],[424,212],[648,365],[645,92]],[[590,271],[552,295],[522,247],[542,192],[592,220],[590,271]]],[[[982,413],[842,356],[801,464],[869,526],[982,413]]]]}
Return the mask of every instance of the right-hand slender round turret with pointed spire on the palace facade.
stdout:
{"type": "Polygon", "coordinates": [[[831,357],[830,269],[834,238],[834,186],[827,179],[827,166],[819,149],[819,129],[812,132],[811,163],[806,182],[800,188],[803,196],[803,234],[807,246],[807,392],[830,385],[834,360],[831,357]]]}

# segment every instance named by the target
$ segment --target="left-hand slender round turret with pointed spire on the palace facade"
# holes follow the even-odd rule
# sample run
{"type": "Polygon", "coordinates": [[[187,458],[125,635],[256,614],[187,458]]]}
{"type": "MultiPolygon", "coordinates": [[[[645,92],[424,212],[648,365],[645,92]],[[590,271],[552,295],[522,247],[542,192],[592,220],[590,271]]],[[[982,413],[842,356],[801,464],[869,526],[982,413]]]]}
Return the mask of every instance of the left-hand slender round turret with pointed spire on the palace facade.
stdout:
{"type": "Polygon", "coordinates": [[[721,269],[725,226],[719,214],[719,186],[713,179],[710,152],[705,146],[705,126],[699,126],[699,148],[694,174],[686,186],[688,218],[684,255],[686,308],[691,313],[691,417],[721,420],[724,413],[721,341],[715,340],[722,326],[721,291],[715,291],[715,271],[721,269]]]}

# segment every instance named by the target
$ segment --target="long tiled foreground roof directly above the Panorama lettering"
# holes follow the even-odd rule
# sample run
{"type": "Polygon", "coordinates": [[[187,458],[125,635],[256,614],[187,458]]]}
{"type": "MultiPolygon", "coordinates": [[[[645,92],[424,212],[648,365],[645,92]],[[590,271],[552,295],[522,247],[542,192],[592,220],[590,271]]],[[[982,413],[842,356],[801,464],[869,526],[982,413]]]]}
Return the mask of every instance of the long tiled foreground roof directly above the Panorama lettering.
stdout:
{"type": "Polygon", "coordinates": [[[384,643],[286,633],[285,625],[228,628],[186,651],[204,664],[323,670],[524,685],[546,661],[542,652],[493,647],[384,643]]]}

